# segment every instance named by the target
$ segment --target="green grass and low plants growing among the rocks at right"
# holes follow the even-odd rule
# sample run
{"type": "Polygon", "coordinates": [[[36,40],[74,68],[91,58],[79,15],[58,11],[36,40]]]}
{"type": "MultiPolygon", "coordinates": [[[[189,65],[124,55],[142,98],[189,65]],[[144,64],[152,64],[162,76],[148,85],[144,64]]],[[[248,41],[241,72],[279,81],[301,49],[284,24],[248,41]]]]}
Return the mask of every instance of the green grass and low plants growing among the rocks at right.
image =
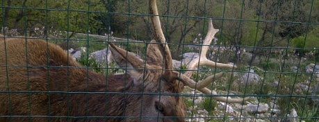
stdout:
{"type": "MultiPolygon", "coordinates": [[[[274,57],[276,58],[276,57],[274,57]]],[[[261,103],[272,103],[274,100],[276,101],[276,105],[279,106],[279,110],[281,110],[281,114],[277,116],[286,116],[291,109],[295,109],[297,111],[298,116],[301,120],[304,121],[319,121],[319,108],[318,105],[315,105],[310,98],[304,98],[302,96],[309,95],[307,93],[307,89],[304,87],[300,87],[302,85],[308,86],[307,82],[311,74],[306,74],[306,65],[312,63],[311,59],[307,60],[307,62],[299,63],[299,60],[293,62],[290,60],[298,59],[297,57],[290,57],[288,59],[284,59],[285,65],[281,64],[282,62],[272,62],[264,60],[261,63],[254,63],[254,66],[238,66],[235,69],[237,75],[233,76],[231,73],[226,73],[222,78],[219,78],[215,81],[214,88],[222,91],[236,91],[239,94],[247,94],[247,95],[257,95],[259,102],[261,103]],[[291,67],[298,67],[298,73],[293,71],[291,67]],[[244,73],[246,73],[249,69],[254,69],[254,73],[258,74],[262,77],[261,81],[257,84],[240,84],[238,82],[234,82],[234,80],[238,79],[244,73]],[[277,83],[277,84],[276,84],[277,83]],[[296,96],[295,96],[296,95],[296,96]],[[301,97],[299,97],[301,96],[301,97]],[[289,101],[289,102],[288,102],[289,101]]],[[[203,79],[205,76],[209,76],[213,74],[213,70],[208,70],[207,67],[202,67],[203,71],[199,73],[194,73],[193,77],[199,79],[203,79]]],[[[222,71],[222,69],[217,69],[217,71],[222,71]]],[[[229,70],[228,70],[229,71],[229,70]]],[[[313,78],[310,82],[316,82],[313,78]]],[[[205,98],[205,101],[202,103],[202,107],[205,110],[212,110],[208,112],[217,112],[212,108],[206,105],[207,103],[213,103],[210,98],[205,98]]],[[[270,105],[270,107],[272,107],[270,105]]],[[[213,116],[210,113],[211,116],[213,116]]],[[[225,118],[226,120],[227,117],[225,118]]],[[[221,120],[221,119],[212,119],[213,120],[221,120]]],[[[282,119],[283,121],[285,119],[282,119]]]]}

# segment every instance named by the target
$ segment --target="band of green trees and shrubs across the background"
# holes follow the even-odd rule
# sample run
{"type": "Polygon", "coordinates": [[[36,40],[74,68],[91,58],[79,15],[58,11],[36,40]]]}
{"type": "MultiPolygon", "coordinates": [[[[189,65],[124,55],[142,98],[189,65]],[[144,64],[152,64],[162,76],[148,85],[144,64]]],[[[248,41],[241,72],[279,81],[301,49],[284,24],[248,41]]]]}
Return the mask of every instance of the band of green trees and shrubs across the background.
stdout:
{"type": "MultiPolygon", "coordinates": [[[[146,42],[154,38],[145,1],[8,0],[1,6],[6,7],[0,12],[1,33],[7,35],[55,38],[66,31],[146,42]]],[[[293,40],[288,46],[300,52],[318,47],[318,1],[158,1],[158,9],[174,57],[192,51],[186,47],[194,44],[195,37],[204,37],[206,18],[220,29],[217,44],[235,46],[240,52],[254,50],[252,60],[269,49],[250,46],[286,47],[293,40]]],[[[240,61],[242,53],[234,54],[234,60],[240,61]]]]}

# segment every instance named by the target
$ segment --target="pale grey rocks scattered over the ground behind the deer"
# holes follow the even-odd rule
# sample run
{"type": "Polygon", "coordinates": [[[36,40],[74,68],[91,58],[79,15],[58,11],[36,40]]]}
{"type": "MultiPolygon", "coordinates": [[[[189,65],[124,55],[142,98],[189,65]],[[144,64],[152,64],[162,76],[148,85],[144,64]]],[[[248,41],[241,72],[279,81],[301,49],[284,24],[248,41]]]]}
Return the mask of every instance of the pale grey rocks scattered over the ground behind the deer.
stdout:
{"type": "MultiPolygon", "coordinates": [[[[73,54],[74,58],[79,58],[81,56],[81,51],[85,51],[85,48],[81,48],[78,51],[69,50],[73,54]]],[[[181,65],[187,65],[190,60],[197,58],[198,53],[185,53],[182,55],[183,62],[174,60],[174,67],[178,68],[181,65]]],[[[96,51],[91,54],[91,58],[95,58],[97,62],[111,63],[113,60],[111,58],[111,53],[107,49],[96,51]],[[107,55],[107,56],[106,56],[107,55]],[[107,59],[107,60],[106,60],[107,59]]],[[[257,68],[258,69],[258,68],[257,68]]],[[[291,67],[295,71],[297,67],[291,67]]],[[[258,69],[262,70],[262,69],[258,69]]],[[[319,85],[319,66],[316,64],[308,64],[305,67],[306,73],[313,74],[311,78],[314,78],[316,83],[312,83],[309,86],[309,80],[304,80],[298,82],[295,86],[295,93],[302,94],[310,88],[310,92],[314,97],[311,98],[313,103],[319,105],[318,96],[318,85],[319,85]]],[[[245,73],[234,73],[236,83],[248,83],[248,84],[258,84],[263,78],[254,72],[254,69],[250,69],[245,73]]],[[[278,82],[268,82],[270,86],[277,87],[278,82]]],[[[218,91],[217,91],[218,92],[218,91]]],[[[220,94],[227,94],[227,92],[219,92],[220,94]]],[[[219,101],[213,101],[213,108],[205,107],[207,101],[205,99],[207,96],[202,96],[201,93],[195,92],[194,89],[186,88],[184,94],[190,96],[184,97],[188,106],[188,115],[190,118],[187,121],[300,121],[298,119],[298,114],[293,108],[290,113],[286,113],[286,116],[282,116],[279,105],[277,105],[277,98],[270,97],[268,103],[259,102],[257,98],[252,97],[249,102],[245,104],[238,103],[222,103],[219,101]],[[192,96],[193,95],[193,96],[192,96]],[[209,112],[208,112],[209,111],[209,112]]]]}

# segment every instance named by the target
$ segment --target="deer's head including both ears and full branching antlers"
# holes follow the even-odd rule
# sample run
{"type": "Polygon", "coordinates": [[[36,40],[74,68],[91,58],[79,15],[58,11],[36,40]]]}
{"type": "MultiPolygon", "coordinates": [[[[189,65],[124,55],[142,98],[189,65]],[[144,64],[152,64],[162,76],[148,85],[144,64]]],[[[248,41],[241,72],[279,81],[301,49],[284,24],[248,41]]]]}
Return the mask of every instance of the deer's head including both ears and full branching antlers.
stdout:
{"type": "MultiPolygon", "coordinates": [[[[120,49],[115,44],[110,43],[111,52],[117,64],[126,70],[130,76],[134,78],[134,85],[140,85],[142,88],[142,98],[145,101],[140,103],[140,100],[132,105],[134,112],[142,112],[140,116],[149,116],[144,119],[152,121],[159,118],[163,121],[184,121],[186,116],[185,105],[182,101],[181,92],[183,86],[186,85],[193,89],[197,89],[204,94],[216,94],[216,92],[207,89],[206,86],[213,82],[213,79],[222,76],[222,73],[217,73],[213,76],[208,76],[202,82],[195,82],[189,77],[199,65],[206,65],[208,67],[227,67],[233,68],[234,65],[216,63],[206,59],[206,51],[208,51],[209,44],[218,29],[213,28],[212,21],[208,24],[208,33],[202,46],[202,54],[199,58],[193,60],[188,66],[185,74],[174,71],[172,67],[172,56],[170,49],[161,29],[161,21],[158,17],[158,10],[156,1],[150,1],[150,12],[152,27],[154,30],[155,40],[152,40],[147,46],[146,61],[136,58],[135,55],[127,53],[127,51],[120,49]],[[138,107],[136,107],[138,106],[138,107]],[[142,110],[140,110],[142,109],[142,110]],[[153,118],[152,118],[153,117],[153,118]]],[[[215,100],[227,103],[244,103],[247,98],[229,98],[224,96],[213,96],[215,100]]],[[[136,116],[136,115],[130,115],[136,116]]]]}

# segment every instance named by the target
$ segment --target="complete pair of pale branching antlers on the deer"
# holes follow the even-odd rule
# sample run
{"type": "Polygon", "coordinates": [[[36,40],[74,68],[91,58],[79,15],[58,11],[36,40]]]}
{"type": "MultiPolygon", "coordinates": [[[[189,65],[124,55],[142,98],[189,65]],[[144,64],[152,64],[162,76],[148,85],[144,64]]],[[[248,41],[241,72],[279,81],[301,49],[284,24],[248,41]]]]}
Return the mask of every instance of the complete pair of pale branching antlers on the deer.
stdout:
{"type": "MultiPolygon", "coordinates": [[[[208,76],[205,78],[202,82],[195,82],[194,80],[191,80],[189,77],[193,73],[193,70],[198,65],[206,65],[208,67],[227,67],[232,68],[235,67],[231,64],[222,64],[213,62],[211,60],[207,60],[206,58],[206,52],[208,51],[209,45],[211,44],[211,41],[213,40],[214,35],[218,32],[218,29],[213,28],[213,24],[211,20],[208,24],[208,33],[204,40],[204,46],[202,46],[202,54],[199,56],[199,58],[196,58],[190,62],[190,65],[188,66],[188,69],[190,71],[187,71],[185,74],[181,74],[177,71],[173,71],[172,68],[172,56],[170,54],[170,49],[168,48],[168,45],[166,43],[163,30],[161,28],[161,21],[158,16],[158,10],[156,6],[156,0],[150,1],[150,13],[151,13],[151,21],[152,21],[152,27],[154,30],[154,35],[156,37],[156,41],[160,44],[161,53],[164,57],[164,67],[166,71],[164,72],[165,78],[167,80],[181,80],[184,85],[197,89],[200,92],[204,94],[217,94],[215,91],[211,91],[206,88],[207,85],[211,84],[213,82],[214,78],[218,78],[222,76],[222,73],[216,73],[213,76],[208,76]]],[[[214,96],[213,97],[216,101],[222,101],[227,103],[243,103],[243,101],[246,101],[247,98],[228,98],[224,96],[214,96]]]]}

